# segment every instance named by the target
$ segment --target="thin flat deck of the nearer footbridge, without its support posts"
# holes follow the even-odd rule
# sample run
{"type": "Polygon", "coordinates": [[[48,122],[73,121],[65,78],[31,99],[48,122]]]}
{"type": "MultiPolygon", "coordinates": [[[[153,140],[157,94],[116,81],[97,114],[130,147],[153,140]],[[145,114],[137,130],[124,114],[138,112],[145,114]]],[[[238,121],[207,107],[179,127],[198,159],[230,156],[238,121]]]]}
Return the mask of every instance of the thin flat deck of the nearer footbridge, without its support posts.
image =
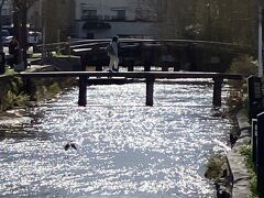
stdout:
{"type": "Polygon", "coordinates": [[[187,73],[187,72],[41,72],[41,73],[20,73],[23,77],[125,77],[125,78],[221,78],[221,79],[243,79],[245,75],[222,74],[222,73],[187,73]]]}

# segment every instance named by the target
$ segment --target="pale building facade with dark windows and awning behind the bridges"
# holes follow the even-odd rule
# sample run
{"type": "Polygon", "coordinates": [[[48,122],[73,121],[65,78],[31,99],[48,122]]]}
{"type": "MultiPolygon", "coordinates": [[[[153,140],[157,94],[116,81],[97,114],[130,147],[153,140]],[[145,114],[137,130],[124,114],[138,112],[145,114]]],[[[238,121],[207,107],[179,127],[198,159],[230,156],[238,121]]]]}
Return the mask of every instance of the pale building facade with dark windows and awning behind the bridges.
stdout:
{"type": "Polygon", "coordinates": [[[156,13],[145,1],[76,0],[74,34],[81,38],[155,37],[156,13]]]}

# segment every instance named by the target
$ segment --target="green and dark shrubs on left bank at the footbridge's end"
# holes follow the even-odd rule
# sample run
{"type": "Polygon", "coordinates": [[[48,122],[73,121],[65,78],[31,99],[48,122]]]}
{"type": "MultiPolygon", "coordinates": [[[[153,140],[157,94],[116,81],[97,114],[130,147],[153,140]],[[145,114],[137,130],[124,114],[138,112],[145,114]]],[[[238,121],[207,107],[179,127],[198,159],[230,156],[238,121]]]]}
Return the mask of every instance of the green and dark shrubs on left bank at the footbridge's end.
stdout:
{"type": "Polygon", "coordinates": [[[74,84],[73,78],[37,78],[25,82],[11,69],[6,75],[0,84],[0,113],[10,109],[31,107],[35,101],[52,99],[74,84]]]}

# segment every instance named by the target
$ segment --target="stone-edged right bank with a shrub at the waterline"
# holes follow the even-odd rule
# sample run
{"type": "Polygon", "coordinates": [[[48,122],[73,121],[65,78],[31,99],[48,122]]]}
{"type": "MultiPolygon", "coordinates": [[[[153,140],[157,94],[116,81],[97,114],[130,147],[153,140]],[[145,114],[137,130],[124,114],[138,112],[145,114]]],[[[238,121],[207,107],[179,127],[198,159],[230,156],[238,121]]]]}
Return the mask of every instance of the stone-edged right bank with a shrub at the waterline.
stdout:
{"type": "Polygon", "coordinates": [[[251,142],[251,125],[245,110],[235,113],[237,130],[230,133],[230,151],[209,161],[207,178],[215,180],[218,198],[248,198],[251,195],[252,176],[242,154],[251,142]]]}

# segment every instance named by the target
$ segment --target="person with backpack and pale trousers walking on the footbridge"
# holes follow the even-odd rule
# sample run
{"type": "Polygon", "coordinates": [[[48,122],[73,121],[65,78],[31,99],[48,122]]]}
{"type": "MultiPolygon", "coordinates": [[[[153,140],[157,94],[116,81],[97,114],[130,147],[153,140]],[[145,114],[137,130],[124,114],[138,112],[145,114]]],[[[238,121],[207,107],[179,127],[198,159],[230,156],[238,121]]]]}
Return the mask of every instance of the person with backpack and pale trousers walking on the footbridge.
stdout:
{"type": "Polygon", "coordinates": [[[109,62],[110,73],[119,70],[118,42],[119,42],[119,37],[116,35],[107,46],[107,53],[108,53],[108,56],[110,57],[110,62],[109,62]]]}

